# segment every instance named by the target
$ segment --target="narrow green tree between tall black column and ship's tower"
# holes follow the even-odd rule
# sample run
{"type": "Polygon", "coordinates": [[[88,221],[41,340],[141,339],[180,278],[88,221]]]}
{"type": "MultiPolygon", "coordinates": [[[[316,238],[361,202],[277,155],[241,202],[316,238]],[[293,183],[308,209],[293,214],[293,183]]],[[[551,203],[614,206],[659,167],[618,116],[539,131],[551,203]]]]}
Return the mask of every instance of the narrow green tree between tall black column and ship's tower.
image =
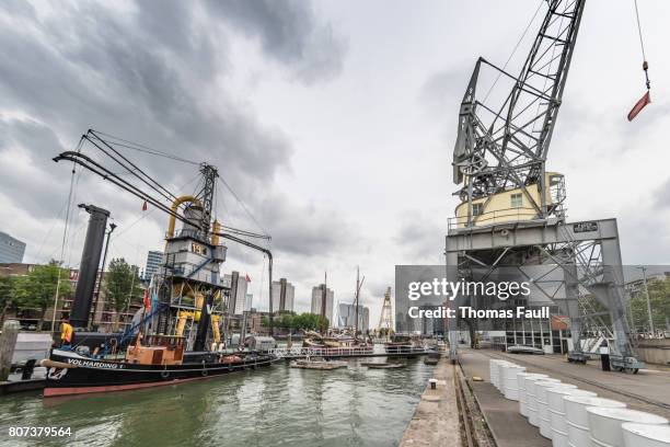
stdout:
{"type": "Polygon", "coordinates": [[[137,267],[128,264],[123,257],[112,260],[109,270],[105,273],[103,290],[105,300],[116,311],[114,321],[114,330],[116,331],[120,312],[128,307],[129,302],[140,298],[143,294],[137,267]]]}

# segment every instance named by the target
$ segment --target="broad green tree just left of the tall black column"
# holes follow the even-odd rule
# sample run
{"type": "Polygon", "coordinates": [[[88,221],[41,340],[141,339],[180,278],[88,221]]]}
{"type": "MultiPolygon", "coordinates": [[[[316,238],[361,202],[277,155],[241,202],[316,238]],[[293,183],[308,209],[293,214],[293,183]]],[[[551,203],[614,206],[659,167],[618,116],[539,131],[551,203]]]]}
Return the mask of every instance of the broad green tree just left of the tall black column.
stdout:
{"type": "Polygon", "coordinates": [[[46,265],[35,265],[25,276],[19,276],[14,287],[15,305],[18,308],[33,308],[39,310],[37,330],[42,331],[44,314],[54,303],[56,290],[58,298],[72,294],[69,272],[60,268],[56,261],[46,265]]]}

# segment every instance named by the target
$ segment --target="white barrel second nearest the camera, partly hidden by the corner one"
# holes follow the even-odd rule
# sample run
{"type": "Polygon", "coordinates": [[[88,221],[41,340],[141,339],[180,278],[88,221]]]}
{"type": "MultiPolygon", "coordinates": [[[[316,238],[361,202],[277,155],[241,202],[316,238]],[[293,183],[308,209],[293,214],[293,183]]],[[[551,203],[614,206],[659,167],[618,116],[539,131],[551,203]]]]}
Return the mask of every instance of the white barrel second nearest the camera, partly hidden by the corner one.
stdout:
{"type": "MultiPolygon", "coordinates": [[[[668,424],[668,420],[657,414],[631,409],[603,409],[588,406],[589,432],[592,447],[624,447],[624,422],[637,424],[668,424]]],[[[635,446],[639,447],[639,446],[635,446]]]]}

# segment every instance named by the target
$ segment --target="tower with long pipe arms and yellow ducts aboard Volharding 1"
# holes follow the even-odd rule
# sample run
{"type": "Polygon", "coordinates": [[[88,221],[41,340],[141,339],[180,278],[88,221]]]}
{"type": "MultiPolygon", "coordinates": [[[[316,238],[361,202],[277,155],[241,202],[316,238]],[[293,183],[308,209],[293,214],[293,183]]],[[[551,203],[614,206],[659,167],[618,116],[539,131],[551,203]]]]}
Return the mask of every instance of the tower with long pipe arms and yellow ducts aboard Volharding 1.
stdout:
{"type": "MultiPolygon", "coordinates": [[[[158,308],[142,316],[125,336],[132,336],[135,330],[149,324],[158,334],[186,336],[187,348],[205,351],[209,330],[212,330],[215,343],[220,341],[218,321],[229,314],[224,303],[223,286],[219,278],[220,264],[226,261],[226,245],[220,239],[227,239],[268,256],[269,284],[269,330],[273,334],[272,302],[272,251],[245,238],[269,240],[269,236],[227,227],[212,221],[213,196],[218,170],[208,163],[199,163],[201,190],[195,195],[176,196],[162,184],[151,177],[136,163],[130,161],[119,147],[141,150],[155,156],[169,157],[178,161],[198,164],[190,160],[159,152],[147,147],[132,144],[107,134],[90,129],[82,136],[79,150],[66,151],[56,157],[55,161],[71,161],[85,170],[97,174],[105,181],[120,187],[137,198],[143,200],[170,217],[166,233],[165,253],[162,273],[155,286],[158,291],[158,308]],[[113,161],[115,167],[122,167],[119,174],[104,162],[84,154],[81,147],[90,144],[104,156],[105,161],[113,161]],[[130,180],[122,176],[130,174],[130,180]],[[175,229],[176,221],[182,224],[175,229]],[[196,326],[194,329],[194,326],[196,326]]],[[[230,299],[229,299],[230,302],[230,299]]],[[[230,311],[230,309],[228,309],[230,311]]],[[[234,309],[232,309],[234,312],[234,309]]]]}

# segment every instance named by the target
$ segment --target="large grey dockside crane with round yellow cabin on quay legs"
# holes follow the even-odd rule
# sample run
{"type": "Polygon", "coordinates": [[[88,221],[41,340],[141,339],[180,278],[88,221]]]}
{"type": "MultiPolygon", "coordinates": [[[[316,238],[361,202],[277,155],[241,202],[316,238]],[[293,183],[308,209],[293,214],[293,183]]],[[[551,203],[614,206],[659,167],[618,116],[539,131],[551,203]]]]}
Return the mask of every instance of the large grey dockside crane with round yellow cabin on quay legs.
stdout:
{"type": "MultiPolygon", "coordinates": [[[[546,13],[518,76],[480,58],[459,113],[453,150],[453,182],[460,185],[455,217],[446,238],[447,275],[477,280],[500,267],[518,270],[523,280],[567,313],[570,360],[586,360],[581,337],[600,331],[615,339],[612,365],[636,371],[624,317],[623,270],[615,219],[566,222],[564,176],[546,171],[546,159],[575,51],[586,0],[547,0],[546,13]],[[484,95],[484,70],[495,81],[484,95]],[[488,101],[496,87],[511,88],[488,101]],[[529,266],[561,272],[563,286],[550,290],[529,266]],[[478,278],[476,272],[484,272],[478,278]],[[609,311],[592,311],[592,300],[609,311]]],[[[555,272],[554,272],[555,274],[555,272]]],[[[481,302],[462,296],[453,306],[481,302]]],[[[450,324],[451,357],[457,356],[457,329],[450,324]]],[[[476,321],[467,322],[471,329],[476,321]]]]}

